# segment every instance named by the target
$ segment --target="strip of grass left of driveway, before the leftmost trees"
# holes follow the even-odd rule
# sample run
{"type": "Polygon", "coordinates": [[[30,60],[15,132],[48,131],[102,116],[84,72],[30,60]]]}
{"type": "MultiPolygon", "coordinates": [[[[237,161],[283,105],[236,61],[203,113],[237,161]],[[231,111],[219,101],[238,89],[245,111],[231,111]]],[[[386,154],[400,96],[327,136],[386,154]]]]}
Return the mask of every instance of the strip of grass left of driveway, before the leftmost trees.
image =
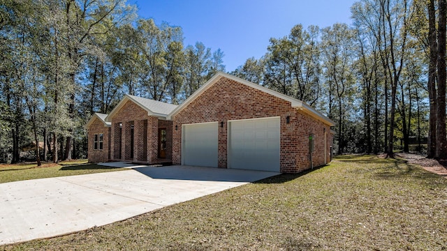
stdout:
{"type": "Polygon", "coordinates": [[[59,164],[43,163],[41,167],[36,163],[0,165],[0,183],[120,170],[122,169],[87,163],[87,160],[64,161],[59,164]]]}

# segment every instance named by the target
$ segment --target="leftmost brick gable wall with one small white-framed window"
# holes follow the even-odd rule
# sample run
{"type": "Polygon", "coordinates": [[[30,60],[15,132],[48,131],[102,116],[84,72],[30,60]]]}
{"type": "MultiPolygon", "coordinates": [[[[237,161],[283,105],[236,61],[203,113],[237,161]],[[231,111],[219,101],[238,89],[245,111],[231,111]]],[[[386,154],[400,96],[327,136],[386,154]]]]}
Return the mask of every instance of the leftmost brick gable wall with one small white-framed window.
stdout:
{"type": "Polygon", "coordinates": [[[93,123],[91,123],[88,133],[89,162],[96,163],[109,160],[109,129],[109,127],[104,126],[104,123],[97,118],[94,120],[93,123]],[[103,134],[103,149],[94,150],[94,135],[100,133],[103,134]]]}

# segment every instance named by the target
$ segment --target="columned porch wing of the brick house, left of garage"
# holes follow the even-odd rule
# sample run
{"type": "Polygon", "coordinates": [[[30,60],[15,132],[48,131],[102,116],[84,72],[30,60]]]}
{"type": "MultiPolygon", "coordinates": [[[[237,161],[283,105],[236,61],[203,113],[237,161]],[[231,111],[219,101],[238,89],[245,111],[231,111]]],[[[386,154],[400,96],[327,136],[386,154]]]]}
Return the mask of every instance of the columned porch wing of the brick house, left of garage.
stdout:
{"type": "MultiPolygon", "coordinates": [[[[166,116],[175,107],[177,105],[166,102],[131,95],[124,96],[103,119],[110,127],[108,158],[95,158],[96,151],[89,147],[89,162],[131,161],[148,164],[172,162],[173,121],[167,121],[166,116]]],[[[89,130],[89,146],[94,144],[94,134],[99,133],[97,128],[92,127],[94,124],[90,121],[86,126],[89,130]]],[[[101,157],[104,156],[105,153],[101,157]]]]}

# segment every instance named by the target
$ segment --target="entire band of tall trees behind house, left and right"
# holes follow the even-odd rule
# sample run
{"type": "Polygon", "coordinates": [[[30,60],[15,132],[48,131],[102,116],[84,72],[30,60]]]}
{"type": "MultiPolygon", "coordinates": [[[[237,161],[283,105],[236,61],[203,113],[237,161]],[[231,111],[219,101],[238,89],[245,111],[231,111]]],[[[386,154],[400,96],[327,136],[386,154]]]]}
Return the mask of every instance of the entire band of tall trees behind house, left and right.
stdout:
{"type": "MultiPolygon", "coordinates": [[[[352,24],[293,26],[231,74],[335,121],[337,153],[446,158],[446,0],[360,0],[352,24]]],[[[223,52],[125,0],[0,0],[0,158],[29,142],[45,160],[87,154],[83,126],[124,94],[179,104],[223,52]]]]}

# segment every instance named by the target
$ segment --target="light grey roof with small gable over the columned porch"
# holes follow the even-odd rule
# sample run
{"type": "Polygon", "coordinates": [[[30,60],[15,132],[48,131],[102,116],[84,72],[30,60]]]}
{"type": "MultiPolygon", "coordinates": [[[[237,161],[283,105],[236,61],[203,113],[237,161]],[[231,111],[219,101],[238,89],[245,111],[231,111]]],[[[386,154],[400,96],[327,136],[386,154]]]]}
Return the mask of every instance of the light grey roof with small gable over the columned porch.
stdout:
{"type": "Polygon", "coordinates": [[[112,109],[112,112],[108,114],[108,116],[105,118],[105,121],[111,121],[112,117],[115,116],[115,114],[124,106],[124,104],[126,104],[127,101],[134,102],[142,109],[145,109],[148,116],[156,116],[163,119],[166,119],[166,116],[168,116],[168,114],[177,107],[177,105],[171,105],[166,102],[126,94],[126,96],[124,96],[124,98],[119,101],[118,105],[112,109]]]}

